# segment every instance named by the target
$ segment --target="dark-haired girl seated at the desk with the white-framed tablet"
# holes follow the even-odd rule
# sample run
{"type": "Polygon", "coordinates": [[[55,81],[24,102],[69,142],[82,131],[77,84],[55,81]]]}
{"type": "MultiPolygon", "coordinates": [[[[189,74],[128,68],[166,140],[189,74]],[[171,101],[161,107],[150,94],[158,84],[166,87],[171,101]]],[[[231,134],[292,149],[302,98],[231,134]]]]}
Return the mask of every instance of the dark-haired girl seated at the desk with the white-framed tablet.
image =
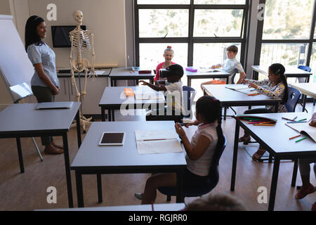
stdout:
{"type": "MultiPolygon", "coordinates": [[[[208,180],[209,168],[218,143],[218,136],[223,136],[220,101],[212,96],[202,96],[197,100],[195,116],[197,120],[186,126],[198,126],[191,141],[184,129],[176,123],[175,128],[185,147],[187,168],[183,174],[183,186],[204,186],[208,180]],[[220,128],[218,134],[216,128],[220,128]]],[[[176,186],[176,173],[152,174],[147,179],[144,193],[135,193],[142,204],[150,204],[156,199],[157,188],[176,186]]]]}

